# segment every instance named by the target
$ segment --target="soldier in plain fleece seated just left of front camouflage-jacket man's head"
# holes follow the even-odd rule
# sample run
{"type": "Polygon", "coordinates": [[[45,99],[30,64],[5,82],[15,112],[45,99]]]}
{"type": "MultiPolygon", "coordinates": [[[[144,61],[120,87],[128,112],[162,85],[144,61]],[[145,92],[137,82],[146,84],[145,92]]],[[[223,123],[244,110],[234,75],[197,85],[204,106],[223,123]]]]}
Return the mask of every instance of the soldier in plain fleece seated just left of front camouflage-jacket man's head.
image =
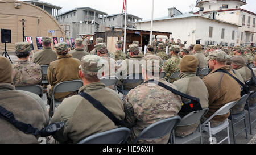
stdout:
{"type": "MultiPolygon", "coordinates": [[[[130,74],[141,73],[141,63],[139,61],[142,60],[142,56],[139,56],[139,45],[129,45],[129,50],[130,57],[124,60],[119,65],[119,69],[117,70],[117,76],[119,79],[121,79],[117,83],[118,87],[121,87],[123,79],[125,79],[130,74]]],[[[138,85],[141,85],[141,83],[142,82],[125,83],[124,89],[134,89],[138,85]]]]}

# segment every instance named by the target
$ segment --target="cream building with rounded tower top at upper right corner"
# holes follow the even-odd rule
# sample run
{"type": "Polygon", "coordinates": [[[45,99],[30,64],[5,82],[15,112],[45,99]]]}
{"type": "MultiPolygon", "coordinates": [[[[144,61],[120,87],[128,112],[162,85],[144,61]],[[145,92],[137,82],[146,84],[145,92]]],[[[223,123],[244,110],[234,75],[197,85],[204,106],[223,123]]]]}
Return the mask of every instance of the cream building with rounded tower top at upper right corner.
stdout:
{"type": "MultiPolygon", "coordinates": [[[[237,31],[232,31],[232,39],[238,45],[251,45],[256,43],[255,18],[256,14],[244,9],[246,0],[223,0],[206,1],[197,0],[196,7],[204,10],[203,16],[213,19],[224,20],[226,22],[240,25],[237,31]]],[[[196,14],[199,14],[197,12],[196,14]]],[[[214,30],[213,30],[214,31],[214,30]]]]}

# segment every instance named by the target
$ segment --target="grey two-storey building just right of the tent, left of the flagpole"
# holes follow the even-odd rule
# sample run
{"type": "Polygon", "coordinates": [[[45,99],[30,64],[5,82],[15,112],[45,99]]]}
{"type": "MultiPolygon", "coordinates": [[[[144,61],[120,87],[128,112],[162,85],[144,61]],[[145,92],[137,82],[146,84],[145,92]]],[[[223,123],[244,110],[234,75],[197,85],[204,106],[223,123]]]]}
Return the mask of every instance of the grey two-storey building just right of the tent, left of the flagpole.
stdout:
{"type": "Polygon", "coordinates": [[[68,38],[79,37],[80,34],[94,34],[105,30],[101,17],[108,15],[105,12],[90,7],[79,7],[60,14],[58,22],[68,38]]]}

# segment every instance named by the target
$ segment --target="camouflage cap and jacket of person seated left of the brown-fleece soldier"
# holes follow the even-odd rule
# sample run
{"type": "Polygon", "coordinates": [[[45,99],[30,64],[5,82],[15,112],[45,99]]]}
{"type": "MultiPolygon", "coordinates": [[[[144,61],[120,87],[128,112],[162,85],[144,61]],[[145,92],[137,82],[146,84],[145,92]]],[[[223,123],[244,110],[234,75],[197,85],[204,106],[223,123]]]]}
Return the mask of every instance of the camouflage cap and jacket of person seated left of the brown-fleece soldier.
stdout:
{"type": "MultiPolygon", "coordinates": [[[[15,51],[18,53],[30,52],[30,43],[16,43],[15,51]]],[[[42,82],[42,71],[38,64],[28,60],[18,60],[13,63],[13,85],[27,86],[40,85],[42,82]]]]}

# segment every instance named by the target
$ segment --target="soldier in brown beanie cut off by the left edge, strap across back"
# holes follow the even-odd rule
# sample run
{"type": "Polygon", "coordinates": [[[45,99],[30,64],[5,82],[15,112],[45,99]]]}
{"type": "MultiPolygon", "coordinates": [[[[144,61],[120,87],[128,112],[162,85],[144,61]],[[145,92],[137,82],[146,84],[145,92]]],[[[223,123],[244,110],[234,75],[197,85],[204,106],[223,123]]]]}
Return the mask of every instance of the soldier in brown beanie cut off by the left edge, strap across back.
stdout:
{"type": "MultiPolygon", "coordinates": [[[[39,130],[46,127],[49,123],[49,116],[46,107],[42,105],[43,100],[33,93],[16,91],[11,85],[12,70],[11,62],[5,57],[0,57],[0,106],[13,112],[14,118],[20,122],[31,124],[39,130]],[[39,99],[36,99],[36,96],[39,99]]],[[[0,144],[39,143],[40,136],[26,134],[14,127],[1,114],[0,116],[0,144]]]]}

